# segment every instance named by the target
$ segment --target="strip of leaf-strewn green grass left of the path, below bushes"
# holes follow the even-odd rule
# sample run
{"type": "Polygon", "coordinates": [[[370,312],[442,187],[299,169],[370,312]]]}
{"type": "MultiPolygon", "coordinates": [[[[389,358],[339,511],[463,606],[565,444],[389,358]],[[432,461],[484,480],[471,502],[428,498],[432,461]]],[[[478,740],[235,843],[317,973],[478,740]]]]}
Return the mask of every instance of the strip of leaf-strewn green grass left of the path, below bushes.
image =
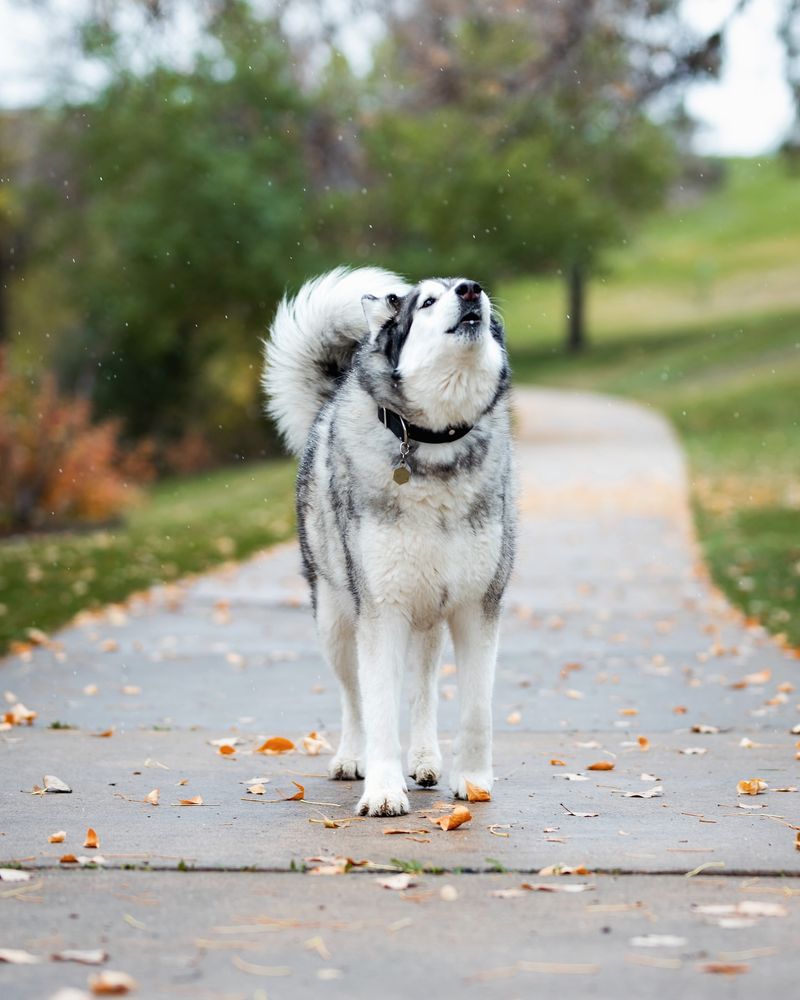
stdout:
{"type": "Polygon", "coordinates": [[[158,484],[119,527],[2,542],[0,652],[28,628],[288,538],[293,494],[292,462],[220,469],[158,484]]]}

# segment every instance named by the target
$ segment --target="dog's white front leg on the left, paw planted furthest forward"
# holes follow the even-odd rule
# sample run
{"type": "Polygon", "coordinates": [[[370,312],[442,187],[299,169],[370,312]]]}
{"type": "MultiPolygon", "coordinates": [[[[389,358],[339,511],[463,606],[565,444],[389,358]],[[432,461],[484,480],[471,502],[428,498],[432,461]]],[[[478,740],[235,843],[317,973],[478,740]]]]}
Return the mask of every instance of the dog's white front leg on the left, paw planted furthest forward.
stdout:
{"type": "Polygon", "coordinates": [[[364,614],[357,626],[358,675],[366,734],[364,794],[360,815],[402,816],[408,796],[400,761],[400,688],[409,622],[401,614],[364,614]]]}

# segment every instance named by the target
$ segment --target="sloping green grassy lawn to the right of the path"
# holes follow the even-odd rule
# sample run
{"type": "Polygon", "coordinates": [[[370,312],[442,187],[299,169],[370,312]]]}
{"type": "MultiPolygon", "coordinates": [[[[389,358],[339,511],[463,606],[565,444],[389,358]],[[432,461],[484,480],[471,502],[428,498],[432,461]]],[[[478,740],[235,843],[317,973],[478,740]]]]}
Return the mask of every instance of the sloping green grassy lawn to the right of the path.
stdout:
{"type": "Polygon", "coordinates": [[[664,411],[686,446],[717,584],[800,646],[800,178],[730,165],[725,187],[656,217],[590,291],[590,349],[561,349],[554,280],[501,289],[519,382],[664,411]]]}

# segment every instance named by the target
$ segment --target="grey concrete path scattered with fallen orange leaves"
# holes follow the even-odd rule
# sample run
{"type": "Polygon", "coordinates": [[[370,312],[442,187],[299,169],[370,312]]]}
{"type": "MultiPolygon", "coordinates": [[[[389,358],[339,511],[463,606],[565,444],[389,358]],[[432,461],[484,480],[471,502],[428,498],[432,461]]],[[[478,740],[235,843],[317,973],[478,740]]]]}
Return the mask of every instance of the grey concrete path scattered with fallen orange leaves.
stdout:
{"type": "Polygon", "coordinates": [[[354,820],[358,786],[327,781],[324,754],[253,753],[335,742],[293,546],[85,616],[0,665],[0,690],[39,713],[0,732],[0,866],[30,873],[0,882],[0,949],[41,960],[0,963],[0,993],[85,989],[96,970],[50,960],[64,948],[103,949],[148,998],[793,990],[800,664],[709,586],[659,417],[544,390],[518,413],[493,800],[449,833],[431,822],[444,789],[412,791],[400,821],[354,820]],[[209,742],[234,736],[227,756],[209,742]],[[31,795],[45,774],[72,793],[31,795]],[[752,778],[767,789],[737,795],[752,778]],[[304,801],[269,801],[292,781],[304,801]],[[99,870],[60,862],[98,853],[99,870]],[[359,864],[308,873],[341,859],[359,864]],[[377,884],[399,869],[416,884],[377,884]]]}

